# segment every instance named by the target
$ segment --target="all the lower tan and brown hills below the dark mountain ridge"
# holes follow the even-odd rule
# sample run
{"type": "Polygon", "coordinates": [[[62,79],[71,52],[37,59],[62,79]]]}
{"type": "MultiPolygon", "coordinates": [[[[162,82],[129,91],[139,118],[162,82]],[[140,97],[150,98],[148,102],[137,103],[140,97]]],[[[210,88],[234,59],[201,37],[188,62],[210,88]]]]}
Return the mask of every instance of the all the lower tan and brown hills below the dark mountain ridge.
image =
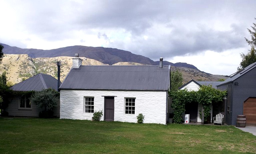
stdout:
{"type": "MultiPolygon", "coordinates": [[[[28,55],[8,55],[5,54],[0,64],[0,73],[6,71],[7,80],[13,84],[21,82],[37,73],[52,75],[57,78],[57,61],[61,62],[61,81],[64,80],[72,67],[73,57],[54,57],[54,58],[30,58],[28,55]]],[[[94,59],[80,57],[83,59],[82,65],[107,65],[94,59]]],[[[134,62],[119,62],[113,65],[145,65],[134,62]]],[[[166,64],[164,64],[166,65],[166,64]]],[[[179,70],[184,78],[184,83],[194,80],[217,81],[220,78],[227,78],[219,75],[210,75],[197,69],[186,67],[171,67],[171,70],[179,70]]]]}

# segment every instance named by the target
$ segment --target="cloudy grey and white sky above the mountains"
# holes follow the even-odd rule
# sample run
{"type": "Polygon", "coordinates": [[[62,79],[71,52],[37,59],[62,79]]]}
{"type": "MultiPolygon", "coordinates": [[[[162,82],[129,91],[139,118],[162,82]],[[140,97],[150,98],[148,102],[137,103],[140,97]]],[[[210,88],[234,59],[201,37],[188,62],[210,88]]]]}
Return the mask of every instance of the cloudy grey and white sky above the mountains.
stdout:
{"type": "Polygon", "coordinates": [[[0,0],[0,43],[130,51],[231,75],[247,53],[255,0],[0,0]]]}

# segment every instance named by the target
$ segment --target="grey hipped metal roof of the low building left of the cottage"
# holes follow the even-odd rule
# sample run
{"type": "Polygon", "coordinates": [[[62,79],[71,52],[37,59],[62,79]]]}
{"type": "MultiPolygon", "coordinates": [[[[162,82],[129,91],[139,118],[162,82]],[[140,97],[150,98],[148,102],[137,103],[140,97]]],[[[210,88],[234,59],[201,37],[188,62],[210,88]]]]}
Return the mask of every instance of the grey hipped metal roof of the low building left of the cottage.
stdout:
{"type": "Polygon", "coordinates": [[[50,75],[39,73],[10,88],[15,91],[41,91],[47,88],[58,90],[58,80],[50,75]]]}

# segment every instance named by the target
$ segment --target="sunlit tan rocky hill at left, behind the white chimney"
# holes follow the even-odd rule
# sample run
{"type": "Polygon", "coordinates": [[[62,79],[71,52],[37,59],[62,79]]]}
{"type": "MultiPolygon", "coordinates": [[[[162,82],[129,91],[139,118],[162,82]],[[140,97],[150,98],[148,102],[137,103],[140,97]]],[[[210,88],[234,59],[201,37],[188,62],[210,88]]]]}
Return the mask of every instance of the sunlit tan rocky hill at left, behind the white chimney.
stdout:
{"type": "MultiPolygon", "coordinates": [[[[106,65],[85,57],[81,59],[83,59],[83,65],[106,65]]],[[[7,80],[13,84],[38,73],[49,74],[57,78],[57,61],[61,62],[61,81],[63,81],[72,67],[72,57],[30,58],[28,55],[4,54],[0,64],[0,73],[6,71],[7,80]]]]}

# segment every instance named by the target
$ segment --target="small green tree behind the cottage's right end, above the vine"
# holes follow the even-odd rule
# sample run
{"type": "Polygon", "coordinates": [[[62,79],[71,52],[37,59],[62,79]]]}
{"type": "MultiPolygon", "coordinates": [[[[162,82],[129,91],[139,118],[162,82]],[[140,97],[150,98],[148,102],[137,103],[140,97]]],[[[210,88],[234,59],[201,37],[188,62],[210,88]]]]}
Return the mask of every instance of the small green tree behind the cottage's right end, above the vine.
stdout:
{"type": "Polygon", "coordinates": [[[183,84],[182,81],[183,81],[183,78],[182,78],[181,72],[179,72],[178,70],[171,71],[171,73],[170,73],[170,84],[171,84],[170,90],[171,91],[178,90],[178,88],[180,86],[182,86],[182,84],[183,84]]]}

